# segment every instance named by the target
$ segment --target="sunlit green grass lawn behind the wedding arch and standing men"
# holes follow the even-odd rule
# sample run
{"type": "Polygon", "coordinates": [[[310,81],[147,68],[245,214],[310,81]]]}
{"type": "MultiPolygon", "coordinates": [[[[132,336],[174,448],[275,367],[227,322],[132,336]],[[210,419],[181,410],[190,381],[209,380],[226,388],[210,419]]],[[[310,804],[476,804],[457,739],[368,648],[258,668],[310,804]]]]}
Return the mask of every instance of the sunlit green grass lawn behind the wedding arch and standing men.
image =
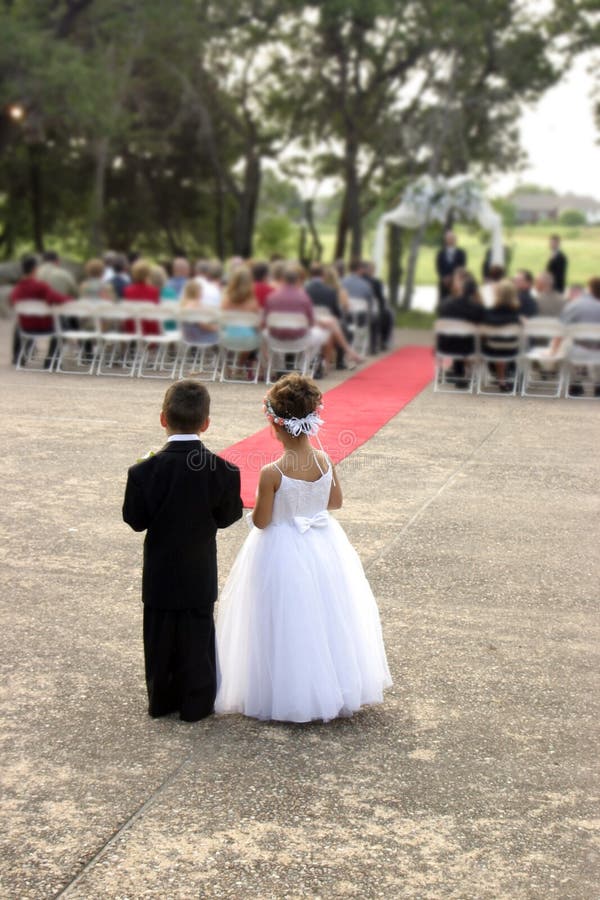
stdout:
{"type": "MultiPolygon", "coordinates": [[[[467,252],[468,268],[477,279],[481,278],[481,266],[487,242],[482,242],[479,234],[457,225],[456,234],[461,247],[467,252]]],[[[550,253],[548,240],[551,234],[560,234],[563,250],[569,259],[569,282],[586,282],[592,275],[600,276],[600,227],[567,228],[560,225],[542,224],[519,226],[504,232],[504,243],[512,251],[510,271],[529,269],[534,275],[546,268],[550,253]]],[[[325,259],[331,259],[334,246],[333,230],[320,232],[325,246],[325,259]]],[[[407,244],[410,238],[407,240],[407,244]]],[[[370,256],[373,235],[365,239],[365,256],[370,256]]],[[[417,264],[417,284],[435,284],[435,254],[437,247],[422,246],[417,264]]],[[[404,254],[406,264],[407,251],[404,254]]]]}

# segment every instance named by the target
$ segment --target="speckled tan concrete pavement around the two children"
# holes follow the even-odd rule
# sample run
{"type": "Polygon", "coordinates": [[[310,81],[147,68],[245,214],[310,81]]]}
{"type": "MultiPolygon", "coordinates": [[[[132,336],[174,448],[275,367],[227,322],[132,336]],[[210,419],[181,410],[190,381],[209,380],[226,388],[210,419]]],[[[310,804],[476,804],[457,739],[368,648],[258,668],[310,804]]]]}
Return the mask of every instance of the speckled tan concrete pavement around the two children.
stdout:
{"type": "MultiPolygon", "coordinates": [[[[2,897],[598,896],[600,403],[425,390],[340,466],[385,704],[188,725],[145,712],[120,518],[165,384],[16,373],[8,341],[2,897]]],[[[211,449],[261,427],[263,387],[210,390],[211,449]]]]}

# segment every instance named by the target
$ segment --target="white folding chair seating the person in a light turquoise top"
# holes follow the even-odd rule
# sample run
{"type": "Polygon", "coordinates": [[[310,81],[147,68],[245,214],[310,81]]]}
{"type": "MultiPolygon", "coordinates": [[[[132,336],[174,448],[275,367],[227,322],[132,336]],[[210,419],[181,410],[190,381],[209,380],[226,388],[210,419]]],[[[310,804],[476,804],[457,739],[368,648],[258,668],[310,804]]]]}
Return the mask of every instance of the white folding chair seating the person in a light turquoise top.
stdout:
{"type": "Polygon", "coordinates": [[[227,311],[219,317],[220,381],[258,381],[262,343],[257,313],[227,311]],[[252,358],[250,354],[256,355],[252,358]]]}

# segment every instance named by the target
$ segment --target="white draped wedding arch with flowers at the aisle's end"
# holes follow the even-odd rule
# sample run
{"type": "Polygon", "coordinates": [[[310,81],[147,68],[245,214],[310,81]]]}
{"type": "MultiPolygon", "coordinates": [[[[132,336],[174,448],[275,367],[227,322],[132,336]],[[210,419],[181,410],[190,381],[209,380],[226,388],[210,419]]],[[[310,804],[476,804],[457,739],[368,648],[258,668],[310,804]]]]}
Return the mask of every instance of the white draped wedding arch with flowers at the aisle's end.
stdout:
{"type": "Polygon", "coordinates": [[[491,264],[503,266],[502,219],[484,197],[475,179],[470,175],[455,175],[453,178],[423,175],[406,188],[400,206],[384,213],[377,223],[373,247],[377,272],[383,270],[388,225],[401,228],[419,228],[431,222],[443,225],[450,211],[458,219],[479,222],[490,233],[491,264]]]}

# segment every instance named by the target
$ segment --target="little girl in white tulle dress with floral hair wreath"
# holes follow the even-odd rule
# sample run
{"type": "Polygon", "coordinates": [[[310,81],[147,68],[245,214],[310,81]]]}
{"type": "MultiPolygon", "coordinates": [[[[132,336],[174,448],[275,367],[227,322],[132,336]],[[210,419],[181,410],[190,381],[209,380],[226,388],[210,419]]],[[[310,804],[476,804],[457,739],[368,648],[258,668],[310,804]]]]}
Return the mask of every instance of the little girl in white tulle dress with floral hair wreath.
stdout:
{"type": "Polygon", "coordinates": [[[265,399],[283,454],[261,471],[255,527],[221,594],[217,713],[328,721],[381,703],[392,684],[375,598],[328,512],[342,505],[337,474],[309,441],[321,409],[300,375],[265,399]]]}

